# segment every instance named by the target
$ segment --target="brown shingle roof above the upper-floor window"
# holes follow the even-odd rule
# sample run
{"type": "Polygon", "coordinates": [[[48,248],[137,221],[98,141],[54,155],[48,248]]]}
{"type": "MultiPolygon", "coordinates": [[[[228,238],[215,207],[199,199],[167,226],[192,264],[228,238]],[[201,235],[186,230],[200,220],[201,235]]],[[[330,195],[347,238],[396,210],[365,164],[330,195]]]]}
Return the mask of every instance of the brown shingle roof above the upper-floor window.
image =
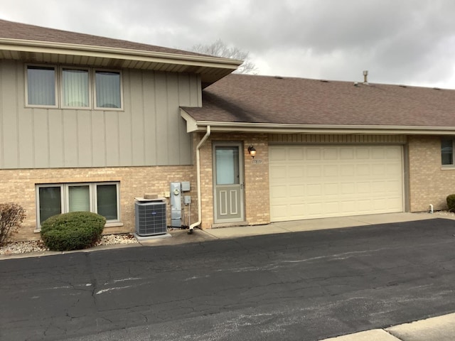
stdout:
{"type": "Polygon", "coordinates": [[[15,23],[12,21],[0,20],[0,38],[36,40],[53,43],[68,43],[75,45],[102,46],[108,48],[127,48],[131,50],[143,50],[159,53],[177,53],[181,55],[200,55],[173,48],[162,48],[161,46],[134,43],[127,40],[91,36],[90,34],[75,33],[69,31],[44,28],[25,23],[15,23]]]}

